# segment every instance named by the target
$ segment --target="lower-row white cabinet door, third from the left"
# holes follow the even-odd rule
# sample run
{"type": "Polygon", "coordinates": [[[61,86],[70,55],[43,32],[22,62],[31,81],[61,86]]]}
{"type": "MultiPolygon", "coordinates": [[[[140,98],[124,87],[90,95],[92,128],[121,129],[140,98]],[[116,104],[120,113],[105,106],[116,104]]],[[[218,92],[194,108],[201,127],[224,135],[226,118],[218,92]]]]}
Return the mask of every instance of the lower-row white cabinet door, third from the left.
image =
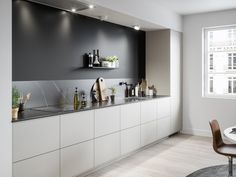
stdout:
{"type": "Polygon", "coordinates": [[[95,166],[120,156],[120,133],[95,139],[95,166]]]}

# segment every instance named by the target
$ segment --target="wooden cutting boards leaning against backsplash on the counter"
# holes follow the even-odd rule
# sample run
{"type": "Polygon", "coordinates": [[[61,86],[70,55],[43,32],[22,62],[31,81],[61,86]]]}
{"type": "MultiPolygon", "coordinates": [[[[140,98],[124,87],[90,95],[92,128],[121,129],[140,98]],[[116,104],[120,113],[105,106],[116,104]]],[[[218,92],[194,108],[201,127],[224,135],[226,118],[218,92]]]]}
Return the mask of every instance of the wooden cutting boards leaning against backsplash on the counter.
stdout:
{"type": "Polygon", "coordinates": [[[105,81],[102,77],[97,78],[91,89],[93,102],[107,101],[105,81]]]}

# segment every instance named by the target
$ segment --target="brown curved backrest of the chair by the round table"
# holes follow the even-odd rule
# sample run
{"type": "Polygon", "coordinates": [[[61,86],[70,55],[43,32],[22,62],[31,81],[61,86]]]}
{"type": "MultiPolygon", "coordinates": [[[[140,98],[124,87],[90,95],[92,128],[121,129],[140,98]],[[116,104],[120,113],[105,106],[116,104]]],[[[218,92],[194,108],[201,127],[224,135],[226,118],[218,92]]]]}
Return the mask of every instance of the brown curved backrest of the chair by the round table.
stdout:
{"type": "Polygon", "coordinates": [[[209,124],[211,126],[211,132],[213,136],[213,148],[215,151],[218,151],[217,149],[224,145],[221,137],[220,126],[217,120],[211,120],[209,124]]]}

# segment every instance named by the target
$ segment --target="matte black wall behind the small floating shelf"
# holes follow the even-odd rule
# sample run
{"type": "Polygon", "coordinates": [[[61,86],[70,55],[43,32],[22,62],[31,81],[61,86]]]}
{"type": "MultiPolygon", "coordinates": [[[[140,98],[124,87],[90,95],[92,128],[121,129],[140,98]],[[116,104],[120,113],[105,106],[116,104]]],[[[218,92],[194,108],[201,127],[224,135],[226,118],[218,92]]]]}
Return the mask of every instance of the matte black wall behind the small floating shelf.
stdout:
{"type": "Polygon", "coordinates": [[[13,81],[144,78],[145,32],[13,0],[13,81]],[[120,68],[84,69],[83,55],[117,55],[120,68]]]}

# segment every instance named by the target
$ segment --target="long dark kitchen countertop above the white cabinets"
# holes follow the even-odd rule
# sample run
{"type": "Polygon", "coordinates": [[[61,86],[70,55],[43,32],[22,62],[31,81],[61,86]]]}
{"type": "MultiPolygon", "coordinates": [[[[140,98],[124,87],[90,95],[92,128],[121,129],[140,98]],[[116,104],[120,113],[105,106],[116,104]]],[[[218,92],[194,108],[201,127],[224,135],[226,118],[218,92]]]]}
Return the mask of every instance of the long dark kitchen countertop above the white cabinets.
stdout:
{"type": "Polygon", "coordinates": [[[39,108],[30,108],[26,109],[23,112],[20,112],[18,115],[18,119],[13,119],[12,122],[20,122],[27,121],[32,119],[44,118],[49,116],[58,116],[68,113],[76,113],[87,110],[94,110],[100,108],[106,108],[111,106],[119,106],[130,103],[138,103],[142,101],[158,99],[158,98],[166,98],[168,95],[159,95],[159,96],[148,96],[148,97],[131,97],[131,98],[117,98],[114,103],[110,101],[101,102],[101,103],[89,103],[85,107],[79,106],[78,110],[74,110],[73,105],[66,105],[64,107],[56,107],[56,106],[48,106],[48,107],[39,107],[39,108]]]}

